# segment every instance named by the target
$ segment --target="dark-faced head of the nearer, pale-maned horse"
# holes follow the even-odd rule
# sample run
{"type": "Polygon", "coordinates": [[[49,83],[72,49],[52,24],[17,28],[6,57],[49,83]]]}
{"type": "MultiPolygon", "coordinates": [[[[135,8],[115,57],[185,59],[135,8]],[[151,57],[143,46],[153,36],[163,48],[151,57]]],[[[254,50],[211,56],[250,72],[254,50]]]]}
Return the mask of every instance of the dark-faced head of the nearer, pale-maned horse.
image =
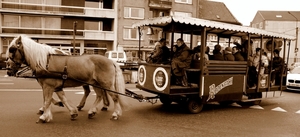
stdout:
{"type": "Polygon", "coordinates": [[[27,64],[25,60],[25,54],[23,49],[23,44],[21,41],[21,36],[15,38],[8,48],[7,58],[9,58],[16,66],[21,66],[21,64],[27,64]]]}

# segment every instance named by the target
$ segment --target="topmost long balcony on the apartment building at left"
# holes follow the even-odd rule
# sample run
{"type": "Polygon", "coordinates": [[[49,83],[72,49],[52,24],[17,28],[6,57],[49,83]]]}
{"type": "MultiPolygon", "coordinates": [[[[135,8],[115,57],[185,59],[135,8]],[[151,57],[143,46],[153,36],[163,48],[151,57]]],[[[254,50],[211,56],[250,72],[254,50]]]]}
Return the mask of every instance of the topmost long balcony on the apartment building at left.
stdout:
{"type": "Polygon", "coordinates": [[[41,5],[17,2],[2,2],[3,12],[11,13],[31,13],[46,15],[72,15],[87,16],[99,18],[115,18],[116,11],[114,9],[87,8],[62,5],[41,5]]]}

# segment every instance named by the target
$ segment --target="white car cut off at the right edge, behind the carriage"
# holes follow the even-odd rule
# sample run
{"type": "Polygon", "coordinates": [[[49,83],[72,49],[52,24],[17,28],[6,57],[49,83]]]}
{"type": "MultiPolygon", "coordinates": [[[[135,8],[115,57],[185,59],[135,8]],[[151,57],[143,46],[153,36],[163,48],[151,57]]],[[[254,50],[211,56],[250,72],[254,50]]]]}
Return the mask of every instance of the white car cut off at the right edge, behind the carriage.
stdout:
{"type": "Polygon", "coordinates": [[[288,71],[286,85],[288,90],[300,91],[300,67],[288,71]]]}

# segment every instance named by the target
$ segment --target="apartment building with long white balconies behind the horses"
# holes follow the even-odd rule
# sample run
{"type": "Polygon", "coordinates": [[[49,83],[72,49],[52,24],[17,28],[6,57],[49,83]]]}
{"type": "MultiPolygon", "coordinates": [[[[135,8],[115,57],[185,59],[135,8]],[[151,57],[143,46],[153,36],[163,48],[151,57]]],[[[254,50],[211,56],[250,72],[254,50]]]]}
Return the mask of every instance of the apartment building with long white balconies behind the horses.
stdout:
{"type": "Polygon", "coordinates": [[[19,34],[72,53],[75,46],[75,54],[116,47],[117,0],[2,0],[0,6],[0,53],[19,34]]]}

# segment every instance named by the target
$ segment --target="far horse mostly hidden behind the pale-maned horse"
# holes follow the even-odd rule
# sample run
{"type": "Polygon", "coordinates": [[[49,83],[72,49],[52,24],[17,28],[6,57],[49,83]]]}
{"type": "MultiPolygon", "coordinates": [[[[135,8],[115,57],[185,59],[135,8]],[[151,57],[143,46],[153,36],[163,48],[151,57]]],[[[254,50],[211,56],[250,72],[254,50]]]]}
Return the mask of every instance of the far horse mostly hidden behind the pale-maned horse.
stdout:
{"type": "MultiPolygon", "coordinates": [[[[35,78],[35,76],[32,73],[32,70],[28,66],[20,69],[21,64],[16,64],[9,58],[5,62],[6,62],[6,73],[7,73],[8,76],[35,78]]],[[[84,95],[82,96],[82,99],[81,99],[80,103],[77,105],[77,109],[79,111],[84,107],[86,99],[87,99],[87,97],[89,96],[89,94],[91,92],[89,85],[83,85],[82,87],[83,87],[83,90],[84,90],[84,95]]],[[[55,98],[52,99],[52,103],[54,105],[64,107],[62,102],[60,100],[55,99],[55,98]]],[[[102,107],[101,111],[106,111],[108,109],[109,102],[103,102],[103,103],[104,104],[103,104],[103,107],[102,107]]],[[[44,113],[44,110],[43,110],[43,107],[41,107],[38,111],[38,114],[43,114],[43,113],[44,113]]]]}

